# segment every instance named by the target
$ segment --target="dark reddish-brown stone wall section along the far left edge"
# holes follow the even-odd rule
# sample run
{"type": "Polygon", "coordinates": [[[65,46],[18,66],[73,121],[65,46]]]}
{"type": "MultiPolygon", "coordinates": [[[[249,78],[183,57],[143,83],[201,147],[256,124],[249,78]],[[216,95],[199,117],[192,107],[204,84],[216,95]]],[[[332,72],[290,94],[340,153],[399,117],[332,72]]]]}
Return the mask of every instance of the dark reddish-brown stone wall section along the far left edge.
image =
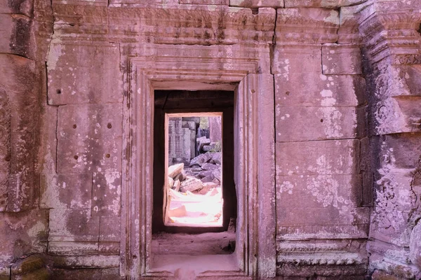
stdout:
{"type": "Polygon", "coordinates": [[[37,165],[45,88],[38,35],[46,29],[34,20],[42,18],[40,5],[0,3],[0,278],[7,279],[13,261],[46,252],[48,237],[48,211],[39,209],[37,165]]]}

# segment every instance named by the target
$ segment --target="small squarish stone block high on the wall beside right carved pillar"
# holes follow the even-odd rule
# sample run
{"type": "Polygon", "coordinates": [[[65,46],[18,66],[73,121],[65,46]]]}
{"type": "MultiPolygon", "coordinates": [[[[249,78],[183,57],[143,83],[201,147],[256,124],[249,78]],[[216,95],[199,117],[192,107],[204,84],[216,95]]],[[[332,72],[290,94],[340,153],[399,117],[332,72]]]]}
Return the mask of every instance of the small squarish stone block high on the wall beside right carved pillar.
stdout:
{"type": "Polygon", "coordinates": [[[321,61],[325,75],[361,75],[361,50],[355,45],[323,44],[321,61]]]}

